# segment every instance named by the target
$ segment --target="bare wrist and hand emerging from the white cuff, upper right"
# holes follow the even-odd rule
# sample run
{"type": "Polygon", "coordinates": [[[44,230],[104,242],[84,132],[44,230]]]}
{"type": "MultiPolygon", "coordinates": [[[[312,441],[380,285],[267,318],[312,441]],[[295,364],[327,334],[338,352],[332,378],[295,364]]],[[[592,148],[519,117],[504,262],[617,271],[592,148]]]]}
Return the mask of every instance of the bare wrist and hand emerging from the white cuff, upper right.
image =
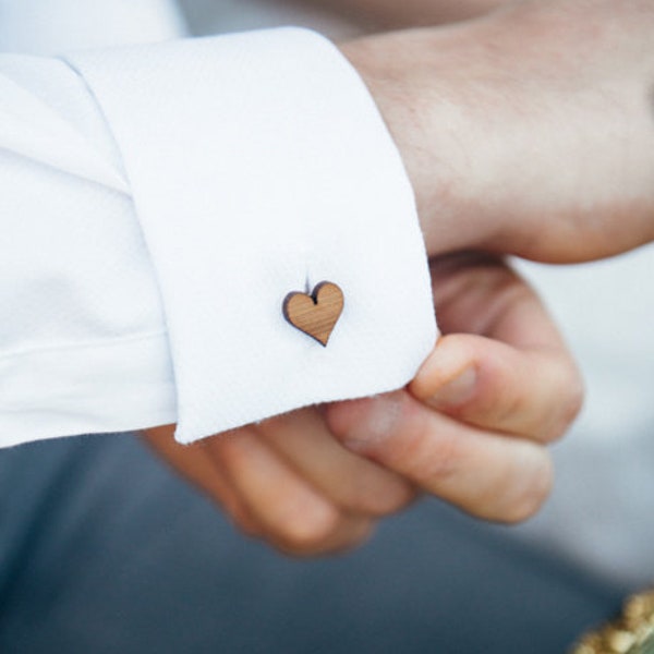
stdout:
{"type": "Polygon", "coordinates": [[[654,239],[654,4],[521,2],[342,50],[403,156],[428,251],[544,262],[654,239]]]}

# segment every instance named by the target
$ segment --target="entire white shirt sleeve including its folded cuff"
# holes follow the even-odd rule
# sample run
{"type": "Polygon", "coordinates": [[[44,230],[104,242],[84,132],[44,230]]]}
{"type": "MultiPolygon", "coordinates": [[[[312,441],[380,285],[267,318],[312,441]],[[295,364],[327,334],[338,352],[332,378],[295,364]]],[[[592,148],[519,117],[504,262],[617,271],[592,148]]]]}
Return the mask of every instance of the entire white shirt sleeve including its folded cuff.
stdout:
{"type": "Polygon", "coordinates": [[[0,58],[0,438],[190,443],[403,386],[436,338],[410,183],[296,28],[0,58]],[[338,284],[326,347],[282,312],[338,284]]]}

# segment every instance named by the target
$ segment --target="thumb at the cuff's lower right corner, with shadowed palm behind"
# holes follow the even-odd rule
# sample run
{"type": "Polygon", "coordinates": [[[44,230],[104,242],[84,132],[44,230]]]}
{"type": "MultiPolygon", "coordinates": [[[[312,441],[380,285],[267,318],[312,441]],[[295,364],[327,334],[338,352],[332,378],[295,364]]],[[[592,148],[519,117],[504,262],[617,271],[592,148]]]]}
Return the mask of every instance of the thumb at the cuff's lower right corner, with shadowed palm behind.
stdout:
{"type": "Polygon", "coordinates": [[[450,336],[411,392],[484,428],[540,441],[560,436],[579,412],[583,384],[536,293],[488,255],[444,257],[432,276],[440,327],[450,336]]]}

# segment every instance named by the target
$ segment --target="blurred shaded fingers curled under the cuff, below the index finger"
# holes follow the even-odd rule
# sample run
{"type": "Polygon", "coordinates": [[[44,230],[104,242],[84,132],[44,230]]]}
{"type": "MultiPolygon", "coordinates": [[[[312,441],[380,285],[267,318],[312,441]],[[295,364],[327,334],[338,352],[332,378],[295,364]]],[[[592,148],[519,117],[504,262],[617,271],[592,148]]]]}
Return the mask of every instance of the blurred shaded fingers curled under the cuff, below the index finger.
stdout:
{"type": "Polygon", "coordinates": [[[322,412],[303,409],[179,445],[172,425],[145,439],[251,536],[295,556],[363,542],[379,517],[404,507],[413,486],[347,451],[322,412]]]}

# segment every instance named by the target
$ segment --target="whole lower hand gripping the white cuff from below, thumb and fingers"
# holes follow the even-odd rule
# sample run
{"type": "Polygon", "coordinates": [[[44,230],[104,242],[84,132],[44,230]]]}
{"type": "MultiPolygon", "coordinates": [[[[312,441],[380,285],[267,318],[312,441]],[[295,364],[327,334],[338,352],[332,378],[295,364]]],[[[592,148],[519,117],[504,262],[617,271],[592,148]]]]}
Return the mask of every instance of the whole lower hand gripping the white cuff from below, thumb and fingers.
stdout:
{"type": "Polygon", "coordinates": [[[545,445],[581,403],[574,365],[538,299],[500,259],[453,255],[432,271],[441,328],[456,334],[408,390],[192,446],[174,443],[172,427],[146,438],[242,531],[289,554],[358,545],[416,487],[487,519],[531,516],[552,483],[545,445]]]}

